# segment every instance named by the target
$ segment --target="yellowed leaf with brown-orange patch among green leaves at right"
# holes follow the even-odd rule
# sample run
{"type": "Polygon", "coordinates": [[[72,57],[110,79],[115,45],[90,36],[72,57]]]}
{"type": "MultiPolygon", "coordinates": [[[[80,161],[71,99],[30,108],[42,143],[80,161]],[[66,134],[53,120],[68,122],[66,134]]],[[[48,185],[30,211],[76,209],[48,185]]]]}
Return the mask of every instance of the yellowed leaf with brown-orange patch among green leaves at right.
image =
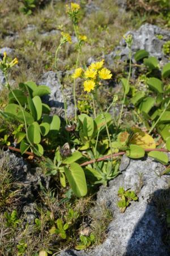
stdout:
{"type": "Polygon", "coordinates": [[[139,128],[132,128],[134,132],[133,137],[130,140],[130,144],[141,146],[144,149],[155,149],[155,140],[146,132],[141,131],[139,128]]]}

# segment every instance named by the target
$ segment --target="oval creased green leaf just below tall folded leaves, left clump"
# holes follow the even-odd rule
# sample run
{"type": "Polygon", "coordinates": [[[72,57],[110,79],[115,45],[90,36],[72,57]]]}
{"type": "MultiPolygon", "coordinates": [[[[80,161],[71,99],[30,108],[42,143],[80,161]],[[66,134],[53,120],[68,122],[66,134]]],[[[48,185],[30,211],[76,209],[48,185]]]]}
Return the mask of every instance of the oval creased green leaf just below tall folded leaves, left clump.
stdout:
{"type": "Polygon", "coordinates": [[[28,139],[32,144],[39,144],[41,141],[40,127],[37,122],[33,122],[28,127],[28,139]]]}

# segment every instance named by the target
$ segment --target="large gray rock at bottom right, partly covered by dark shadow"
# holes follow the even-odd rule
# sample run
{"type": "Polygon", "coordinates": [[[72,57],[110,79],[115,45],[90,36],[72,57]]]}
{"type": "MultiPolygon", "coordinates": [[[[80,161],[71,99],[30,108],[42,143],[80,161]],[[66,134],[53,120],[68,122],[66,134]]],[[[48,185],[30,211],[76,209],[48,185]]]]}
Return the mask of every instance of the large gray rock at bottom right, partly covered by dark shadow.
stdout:
{"type": "Polygon", "coordinates": [[[109,182],[109,187],[101,186],[97,194],[97,203],[105,202],[113,212],[107,240],[86,253],[69,250],[60,255],[168,256],[162,242],[163,224],[155,205],[155,198],[169,187],[169,177],[160,177],[163,170],[164,166],[151,158],[131,160],[126,171],[109,182]],[[124,213],[117,207],[119,187],[138,192],[138,202],[132,202],[124,213]]]}

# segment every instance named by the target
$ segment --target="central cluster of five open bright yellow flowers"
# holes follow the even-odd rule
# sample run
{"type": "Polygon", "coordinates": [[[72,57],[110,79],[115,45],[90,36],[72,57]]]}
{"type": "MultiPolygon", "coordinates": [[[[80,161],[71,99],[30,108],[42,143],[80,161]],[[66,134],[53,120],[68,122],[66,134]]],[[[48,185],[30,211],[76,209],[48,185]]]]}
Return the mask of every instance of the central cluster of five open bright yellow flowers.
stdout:
{"type": "Polygon", "coordinates": [[[111,79],[111,71],[103,67],[104,60],[92,63],[86,70],[82,68],[75,69],[72,78],[83,78],[84,91],[90,93],[100,84],[100,79],[111,79]]]}

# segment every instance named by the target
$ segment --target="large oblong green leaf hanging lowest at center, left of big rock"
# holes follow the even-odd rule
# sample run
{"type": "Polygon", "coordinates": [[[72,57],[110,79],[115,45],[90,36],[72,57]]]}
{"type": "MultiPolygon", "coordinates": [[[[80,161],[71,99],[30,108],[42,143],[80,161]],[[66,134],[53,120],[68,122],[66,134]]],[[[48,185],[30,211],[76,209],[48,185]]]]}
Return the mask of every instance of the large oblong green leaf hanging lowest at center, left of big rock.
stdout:
{"type": "Polygon", "coordinates": [[[84,171],[78,163],[71,163],[70,169],[64,167],[66,177],[76,196],[81,197],[87,194],[87,184],[84,171]]]}

